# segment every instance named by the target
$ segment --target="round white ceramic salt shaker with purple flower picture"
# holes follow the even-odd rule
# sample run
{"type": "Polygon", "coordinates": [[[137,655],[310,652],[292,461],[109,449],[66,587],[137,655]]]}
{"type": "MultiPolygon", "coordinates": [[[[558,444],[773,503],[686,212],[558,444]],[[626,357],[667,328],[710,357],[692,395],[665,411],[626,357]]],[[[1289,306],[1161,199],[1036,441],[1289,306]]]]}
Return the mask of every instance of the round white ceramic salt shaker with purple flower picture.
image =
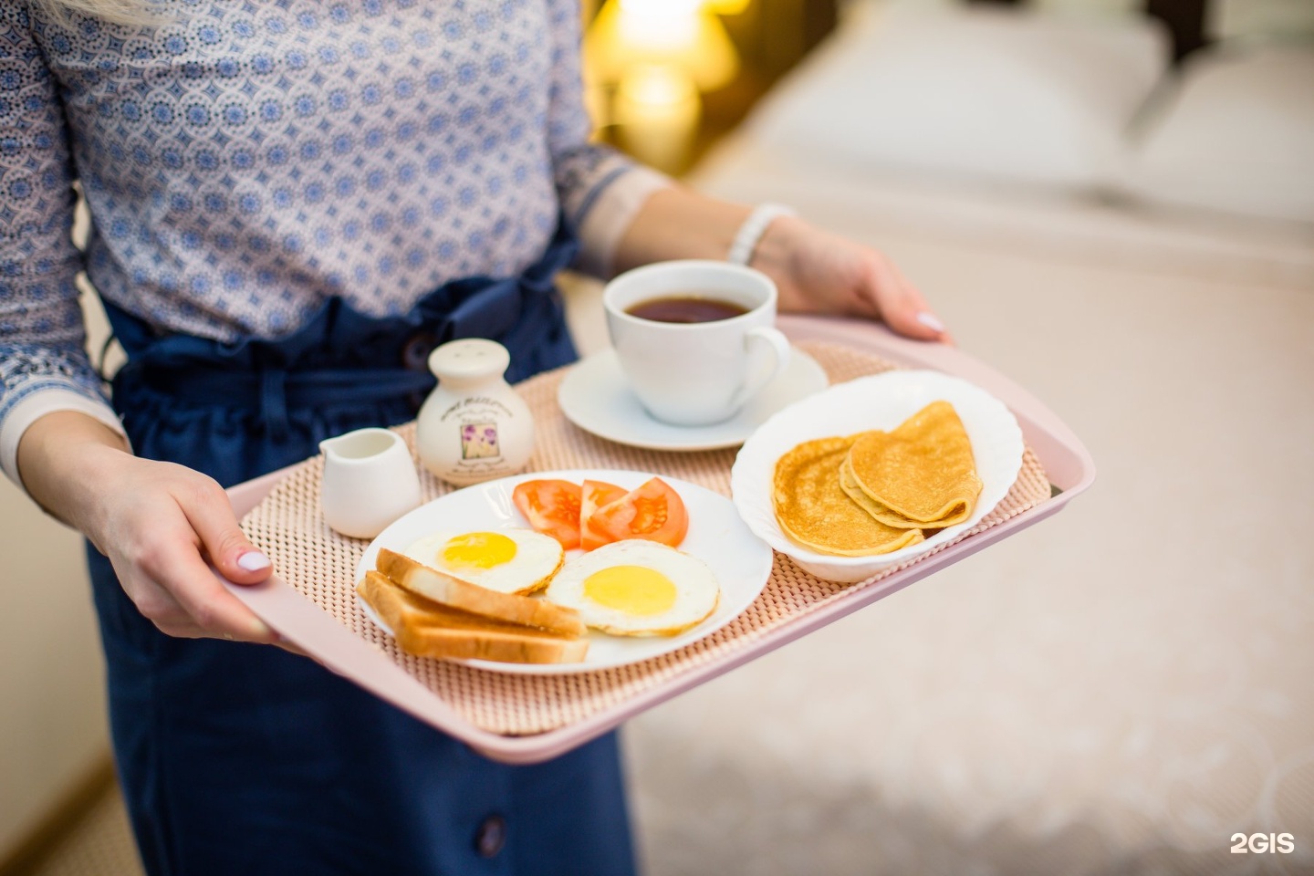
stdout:
{"type": "Polygon", "coordinates": [[[533,453],[530,406],[506,382],[511,355],[495,340],[452,340],[428,356],[438,386],[415,422],[420,462],[466,486],[515,474],[533,453]]]}

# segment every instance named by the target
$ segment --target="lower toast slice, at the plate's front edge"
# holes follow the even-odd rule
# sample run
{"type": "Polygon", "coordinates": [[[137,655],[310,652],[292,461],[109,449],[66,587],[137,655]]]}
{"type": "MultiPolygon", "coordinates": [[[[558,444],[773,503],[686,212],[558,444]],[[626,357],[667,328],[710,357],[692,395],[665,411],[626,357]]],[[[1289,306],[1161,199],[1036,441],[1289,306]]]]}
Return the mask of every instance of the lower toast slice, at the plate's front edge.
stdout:
{"type": "Polygon", "coordinates": [[[398,647],[417,657],[502,663],[576,663],[589,651],[587,638],[549,633],[449,608],[417,596],[377,571],[365,573],[356,592],[392,628],[398,647]]]}

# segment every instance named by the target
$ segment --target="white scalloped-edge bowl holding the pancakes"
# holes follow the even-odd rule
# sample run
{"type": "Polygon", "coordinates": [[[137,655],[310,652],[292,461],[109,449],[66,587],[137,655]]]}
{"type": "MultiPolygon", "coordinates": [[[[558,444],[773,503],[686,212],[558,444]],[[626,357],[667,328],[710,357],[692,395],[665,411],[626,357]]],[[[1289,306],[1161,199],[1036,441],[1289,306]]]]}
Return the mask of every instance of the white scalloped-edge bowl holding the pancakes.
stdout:
{"type": "Polygon", "coordinates": [[[901,563],[975,527],[1008,495],[1022,468],[1022,429],[997,398],[958,377],[932,370],[895,370],[837,383],[795,402],[766,420],[745,441],[731,470],[731,494],[740,516],[766,544],[823,580],[853,583],[901,563]],[[790,540],[775,520],[771,481],[775,461],[809,439],[892,429],[922,407],[943,399],[954,406],[976,457],[982,493],[963,523],[916,545],[871,557],[840,557],[808,550],[790,540]]]}

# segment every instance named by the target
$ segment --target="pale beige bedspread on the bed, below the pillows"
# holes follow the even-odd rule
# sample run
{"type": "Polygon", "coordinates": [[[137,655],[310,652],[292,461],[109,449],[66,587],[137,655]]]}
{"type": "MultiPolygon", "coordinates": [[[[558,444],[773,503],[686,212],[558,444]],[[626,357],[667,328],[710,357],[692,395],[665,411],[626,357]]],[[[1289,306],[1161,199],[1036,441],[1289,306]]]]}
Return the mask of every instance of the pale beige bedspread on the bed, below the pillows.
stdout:
{"type": "Polygon", "coordinates": [[[1314,872],[1310,231],[844,176],[753,130],[695,181],[884,250],[1099,477],[632,721],[648,876],[1314,872]]]}

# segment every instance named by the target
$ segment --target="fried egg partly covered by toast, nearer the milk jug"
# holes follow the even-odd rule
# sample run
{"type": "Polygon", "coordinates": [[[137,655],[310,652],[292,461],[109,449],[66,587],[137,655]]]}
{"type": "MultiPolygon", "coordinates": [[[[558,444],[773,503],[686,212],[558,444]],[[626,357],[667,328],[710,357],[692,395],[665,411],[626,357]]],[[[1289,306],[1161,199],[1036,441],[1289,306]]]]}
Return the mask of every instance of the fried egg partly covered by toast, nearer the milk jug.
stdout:
{"type": "Polygon", "coordinates": [[[532,529],[435,532],[403,553],[452,578],[520,595],[543,590],[565,562],[560,542],[532,529]]]}

